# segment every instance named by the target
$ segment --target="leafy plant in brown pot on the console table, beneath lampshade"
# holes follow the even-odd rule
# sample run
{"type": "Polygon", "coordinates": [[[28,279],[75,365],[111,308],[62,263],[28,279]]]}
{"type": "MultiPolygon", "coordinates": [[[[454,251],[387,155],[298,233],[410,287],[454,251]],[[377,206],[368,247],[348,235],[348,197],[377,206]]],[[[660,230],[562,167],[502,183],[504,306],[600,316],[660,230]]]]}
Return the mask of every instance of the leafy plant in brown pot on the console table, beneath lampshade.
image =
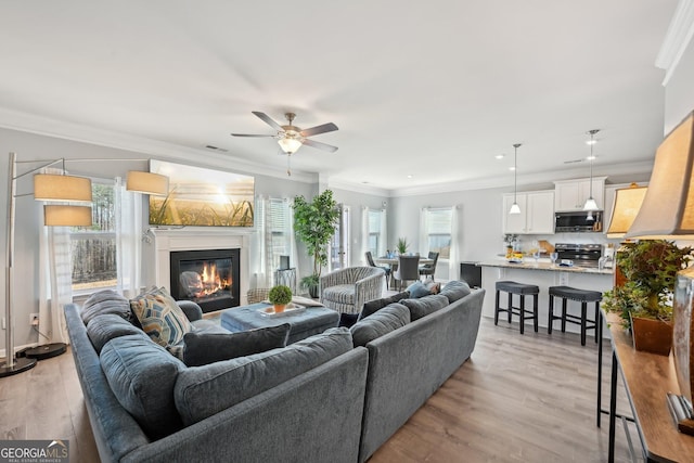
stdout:
{"type": "Polygon", "coordinates": [[[619,313],[622,326],[631,329],[637,350],[669,353],[674,282],[692,250],[666,240],[641,240],[626,243],[617,253],[626,283],[605,293],[603,307],[619,313]]]}

